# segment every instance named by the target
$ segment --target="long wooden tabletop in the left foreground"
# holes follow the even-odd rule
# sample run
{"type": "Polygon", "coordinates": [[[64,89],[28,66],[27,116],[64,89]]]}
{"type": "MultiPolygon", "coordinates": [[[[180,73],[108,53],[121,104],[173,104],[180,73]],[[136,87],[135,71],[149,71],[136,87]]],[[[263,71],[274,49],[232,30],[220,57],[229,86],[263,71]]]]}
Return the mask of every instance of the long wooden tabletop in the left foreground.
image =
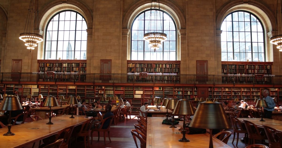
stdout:
{"type": "Polygon", "coordinates": [[[49,119],[14,125],[11,128],[11,132],[16,134],[14,136],[3,136],[3,134],[8,131],[8,128],[2,128],[0,129],[0,148],[23,147],[43,138],[54,135],[61,129],[73,125],[77,126],[82,124],[84,121],[91,119],[84,118],[85,116],[74,116],[75,118],[69,118],[70,116],[71,115],[62,115],[53,117],[51,121],[54,124],[52,125],[46,124],[49,122],[49,119]]]}

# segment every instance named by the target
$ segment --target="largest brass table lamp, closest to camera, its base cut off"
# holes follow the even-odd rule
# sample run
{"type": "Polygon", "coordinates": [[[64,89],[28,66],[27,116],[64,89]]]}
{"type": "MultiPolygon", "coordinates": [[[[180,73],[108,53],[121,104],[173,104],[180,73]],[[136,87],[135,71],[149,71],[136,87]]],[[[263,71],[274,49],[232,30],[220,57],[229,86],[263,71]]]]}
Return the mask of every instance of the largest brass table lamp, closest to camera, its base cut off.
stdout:
{"type": "Polygon", "coordinates": [[[230,129],[228,117],[219,102],[202,102],[194,114],[190,127],[210,129],[210,148],[213,148],[212,129],[230,129]]]}

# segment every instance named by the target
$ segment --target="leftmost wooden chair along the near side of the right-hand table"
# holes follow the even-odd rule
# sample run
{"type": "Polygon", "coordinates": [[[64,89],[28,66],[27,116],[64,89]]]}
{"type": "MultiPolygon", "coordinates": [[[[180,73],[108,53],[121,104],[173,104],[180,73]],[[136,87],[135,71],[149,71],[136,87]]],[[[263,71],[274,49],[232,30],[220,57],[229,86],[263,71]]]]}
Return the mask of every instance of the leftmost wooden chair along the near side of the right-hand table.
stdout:
{"type": "Polygon", "coordinates": [[[233,116],[229,116],[230,119],[231,119],[231,123],[232,123],[232,126],[233,126],[233,140],[232,140],[232,143],[234,142],[235,140],[235,133],[237,133],[237,141],[236,141],[236,146],[238,145],[238,140],[239,140],[239,133],[245,133],[245,136],[246,136],[246,133],[247,132],[247,129],[245,127],[245,124],[242,123],[239,119],[233,117],[233,116]]]}

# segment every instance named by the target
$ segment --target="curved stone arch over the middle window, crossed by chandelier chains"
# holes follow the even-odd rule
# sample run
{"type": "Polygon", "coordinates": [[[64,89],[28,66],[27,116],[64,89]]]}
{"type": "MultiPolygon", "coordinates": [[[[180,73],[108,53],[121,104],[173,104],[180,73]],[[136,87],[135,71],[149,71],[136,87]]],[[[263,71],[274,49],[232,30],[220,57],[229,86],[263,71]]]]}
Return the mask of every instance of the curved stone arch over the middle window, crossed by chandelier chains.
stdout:
{"type": "MultiPolygon", "coordinates": [[[[132,22],[132,17],[135,16],[137,11],[143,11],[149,9],[151,6],[151,0],[139,0],[133,5],[131,5],[126,11],[122,21],[122,28],[129,29],[130,23],[132,22]],[[145,9],[144,9],[145,8],[145,9]]],[[[160,1],[160,6],[162,10],[167,11],[177,22],[177,28],[186,29],[186,21],[183,11],[175,3],[169,0],[160,1]],[[165,7],[163,7],[165,6],[165,7]]]]}

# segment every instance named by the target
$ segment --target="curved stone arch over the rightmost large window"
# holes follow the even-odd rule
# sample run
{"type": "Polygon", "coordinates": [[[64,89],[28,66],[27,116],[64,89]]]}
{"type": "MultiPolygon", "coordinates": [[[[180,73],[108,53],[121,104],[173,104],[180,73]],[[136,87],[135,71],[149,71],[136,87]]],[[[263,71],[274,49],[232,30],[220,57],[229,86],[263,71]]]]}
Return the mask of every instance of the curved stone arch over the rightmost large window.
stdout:
{"type": "Polygon", "coordinates": [[[255,0],[248,0],[248,1],[242,1],[242,0],[235,0],[232,2],[226,3],[226,5],[223,5],[216,13],[216,29],[221,29],[221,24],[224,18],[228,13],[230,13],[230,10],[251,10],[256,14],[257,16],[260,16],[263,18],[263,23],[270,24],[268,26],[265,26],[267,30],[271,31],[273,28],[275,28],[276,19],[272,11],[263,5],[262,3],[255,1],[255,0]],[[249,5],[249,6],[248,6],[249,5]],[[252,7],[252,8],[251,8],[252,7]],[[268,23],[270,22],[270,23],[268,23]]]}

